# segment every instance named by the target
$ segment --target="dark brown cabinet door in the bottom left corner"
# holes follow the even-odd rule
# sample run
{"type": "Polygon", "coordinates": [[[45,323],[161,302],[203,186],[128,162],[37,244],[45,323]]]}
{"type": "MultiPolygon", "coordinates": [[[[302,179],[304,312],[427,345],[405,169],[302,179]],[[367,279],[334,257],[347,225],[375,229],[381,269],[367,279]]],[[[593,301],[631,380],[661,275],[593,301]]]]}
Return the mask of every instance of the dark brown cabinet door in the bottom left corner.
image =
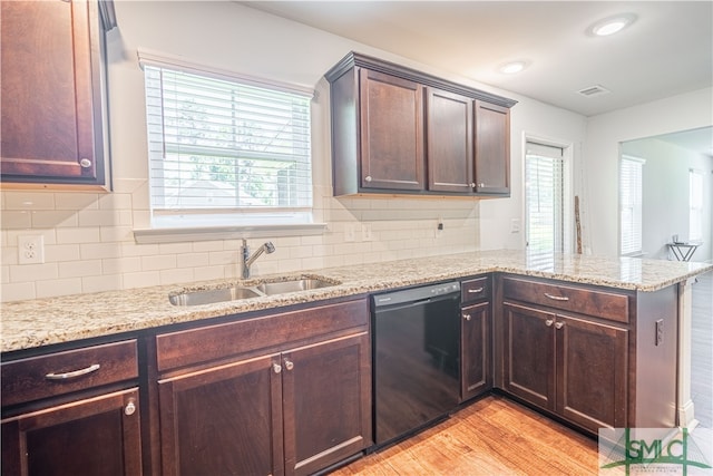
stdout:
{"type": "Polygon", "coordinates": [[[2,474],[141,474],[138,389],[2,420],[2,474]]]}

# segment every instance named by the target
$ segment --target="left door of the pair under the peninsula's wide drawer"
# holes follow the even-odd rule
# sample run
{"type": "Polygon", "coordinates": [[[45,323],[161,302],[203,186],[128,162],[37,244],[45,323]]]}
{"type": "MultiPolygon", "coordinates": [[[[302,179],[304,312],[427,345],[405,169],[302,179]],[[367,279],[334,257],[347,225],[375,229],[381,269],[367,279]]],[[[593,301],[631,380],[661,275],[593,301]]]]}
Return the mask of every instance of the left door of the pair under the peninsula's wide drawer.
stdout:
{"type": "Polygon", "coordinates": [[[555,409],[555,314],[505,303],[505,390],[555,409]]]}

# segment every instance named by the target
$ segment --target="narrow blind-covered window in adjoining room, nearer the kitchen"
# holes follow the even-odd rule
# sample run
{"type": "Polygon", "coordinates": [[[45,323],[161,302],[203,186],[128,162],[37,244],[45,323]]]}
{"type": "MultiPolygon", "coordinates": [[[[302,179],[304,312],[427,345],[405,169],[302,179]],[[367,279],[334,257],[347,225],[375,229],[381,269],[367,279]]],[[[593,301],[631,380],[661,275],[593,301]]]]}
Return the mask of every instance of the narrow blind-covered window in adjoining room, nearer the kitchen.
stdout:
{"type": "Polygon", "coordinates": [[[619,166],[619,227],[621,254],[641,254],[642,250],[642,193],[646,161],[623,155],[619,166]]]}

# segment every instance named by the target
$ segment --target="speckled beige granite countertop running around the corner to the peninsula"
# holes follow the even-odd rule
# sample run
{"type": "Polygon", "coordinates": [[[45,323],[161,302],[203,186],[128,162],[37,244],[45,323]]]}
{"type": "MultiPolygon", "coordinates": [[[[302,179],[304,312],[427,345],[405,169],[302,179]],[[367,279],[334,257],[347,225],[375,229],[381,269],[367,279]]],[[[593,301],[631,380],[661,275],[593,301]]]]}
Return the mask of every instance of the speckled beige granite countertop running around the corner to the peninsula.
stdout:
{"type": "Polygon", "coordinates": [[[0,351],[9,352],[494,271],[647,292],[711,270],[713,264],[706,263],[566,254],[533,255],[524,251],[501,250],[291,273],[290,276],[319,275],[340,284],[195,307],[172,305],[168,294],[227,286],[232,283],[250,285],[251,282],[219,280],[13,301],[2,303],[0,308],[0,351]]]}

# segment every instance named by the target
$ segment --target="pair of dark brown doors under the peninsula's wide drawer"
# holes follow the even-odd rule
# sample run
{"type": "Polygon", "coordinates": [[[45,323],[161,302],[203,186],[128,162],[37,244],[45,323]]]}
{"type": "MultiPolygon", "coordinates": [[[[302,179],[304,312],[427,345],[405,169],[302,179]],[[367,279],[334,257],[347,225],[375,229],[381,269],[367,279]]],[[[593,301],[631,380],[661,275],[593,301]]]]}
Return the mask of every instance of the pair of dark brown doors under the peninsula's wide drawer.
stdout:
{"type": "Polygon", "coordinates": [[[506,391],[590,431],[627,425],[628,330],[504,304],[506,391]]]}

